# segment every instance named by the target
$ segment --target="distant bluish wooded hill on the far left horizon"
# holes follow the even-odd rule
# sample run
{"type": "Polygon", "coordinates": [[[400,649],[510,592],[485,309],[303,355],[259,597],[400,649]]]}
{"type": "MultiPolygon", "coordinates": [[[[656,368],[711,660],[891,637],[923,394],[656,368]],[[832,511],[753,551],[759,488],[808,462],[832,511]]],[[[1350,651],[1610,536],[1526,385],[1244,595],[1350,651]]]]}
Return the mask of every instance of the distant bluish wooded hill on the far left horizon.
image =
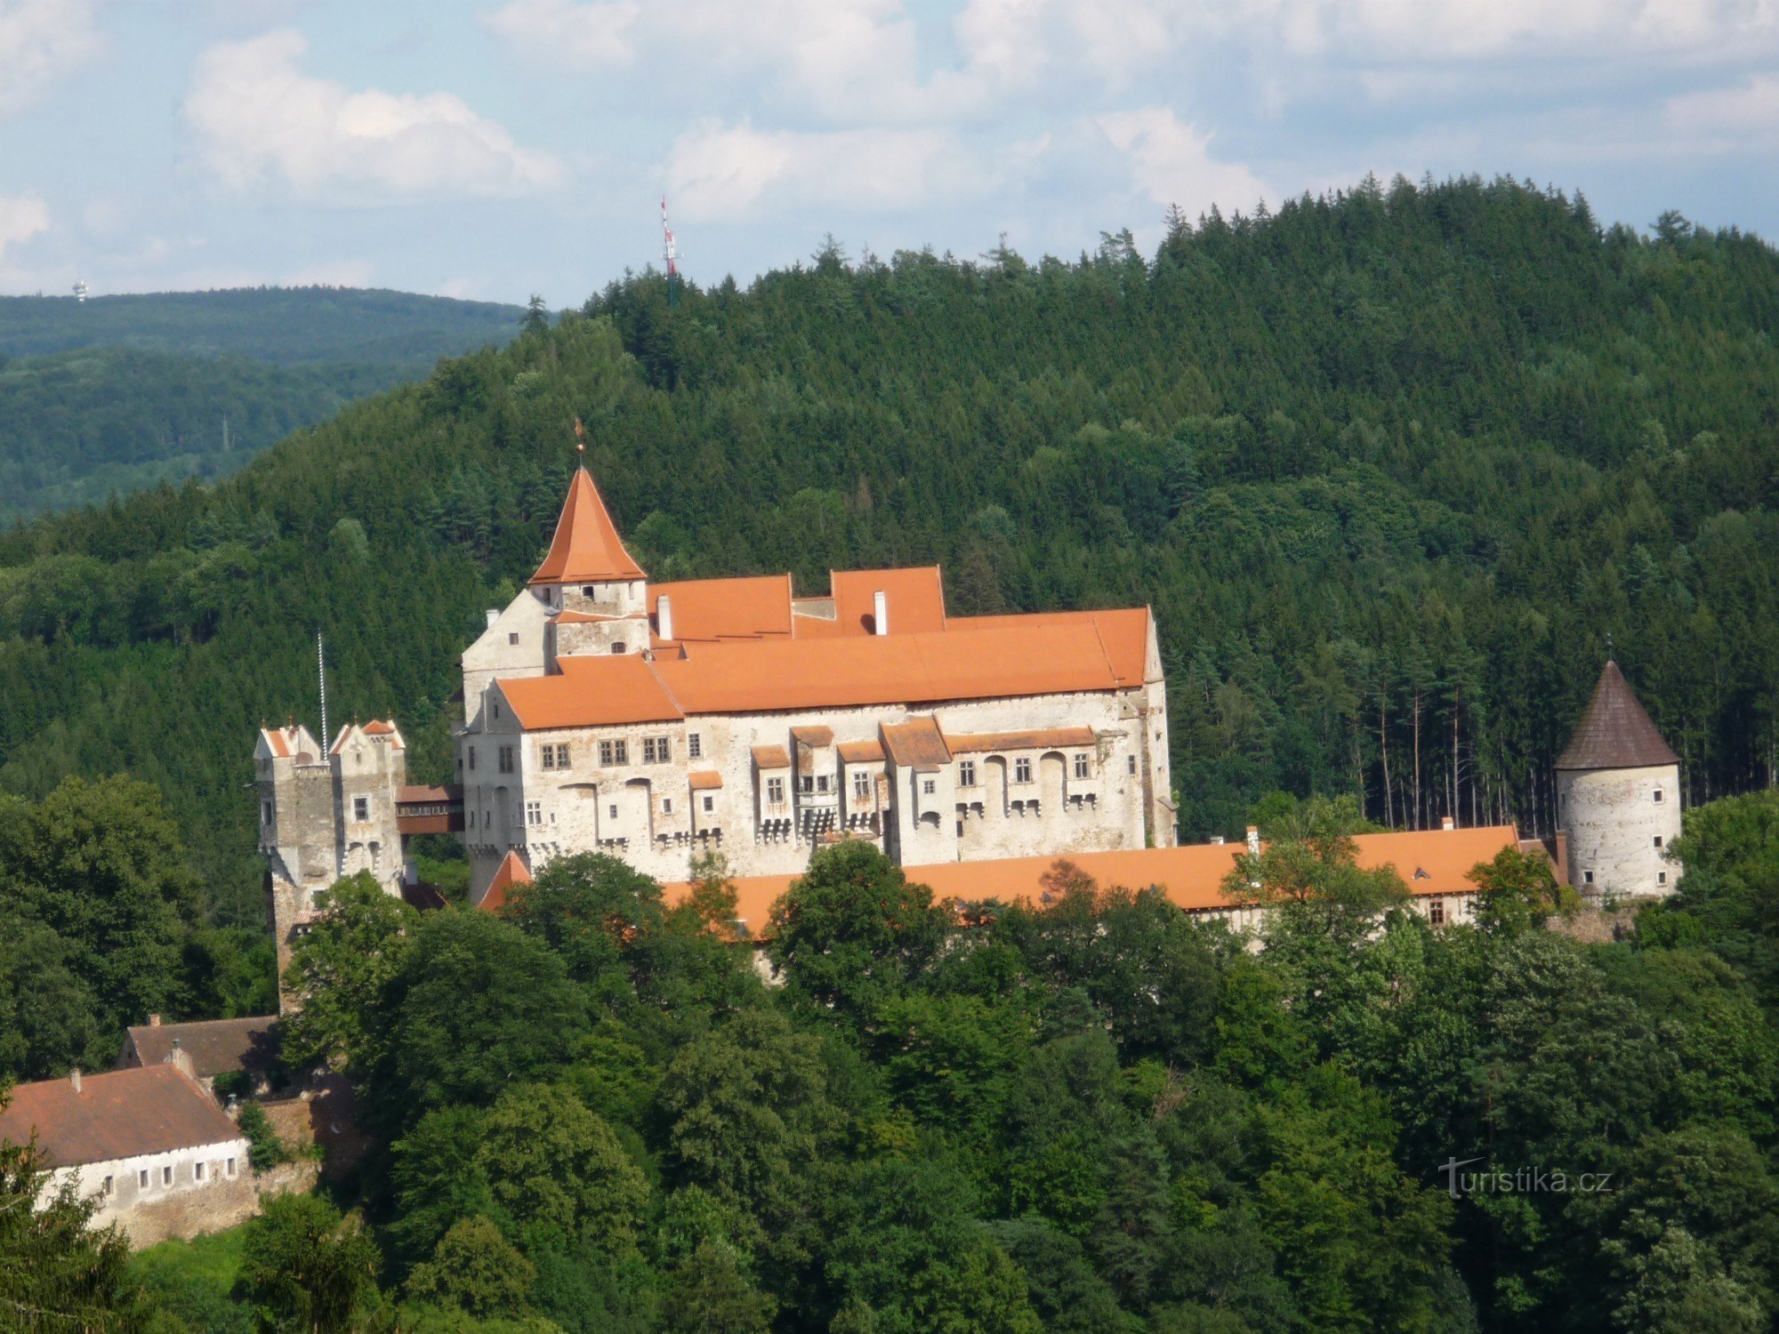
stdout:
{"type": "Polygon", "coordinates": [[[0,521],[224,477],[518,333],[518,306],[350,288],[0,297],[0,521]]]}

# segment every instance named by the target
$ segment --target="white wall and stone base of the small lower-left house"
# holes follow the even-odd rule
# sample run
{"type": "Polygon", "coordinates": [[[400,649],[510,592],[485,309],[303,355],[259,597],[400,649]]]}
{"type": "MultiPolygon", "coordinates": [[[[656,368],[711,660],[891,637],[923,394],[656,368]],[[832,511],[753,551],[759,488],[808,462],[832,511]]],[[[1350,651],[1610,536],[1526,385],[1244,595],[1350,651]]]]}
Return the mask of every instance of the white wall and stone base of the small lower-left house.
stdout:
{"type": "Polygon", "coordinates": [[[73,1181],[76,1193],[98,1204],[93,1226],[107,1227],[116,1222],[137,1247],[167,1236],[196,1236],[231,1227],[254,1213],[256,1197],[247,1147],[247,1140],[238,1138],[62,1167],[50,1174],[44,1193],[50,1195],[60,1190],[64,1181],[73,1181]],[[197,1177],[199,1165],[203,1179],[197,1177]]]}

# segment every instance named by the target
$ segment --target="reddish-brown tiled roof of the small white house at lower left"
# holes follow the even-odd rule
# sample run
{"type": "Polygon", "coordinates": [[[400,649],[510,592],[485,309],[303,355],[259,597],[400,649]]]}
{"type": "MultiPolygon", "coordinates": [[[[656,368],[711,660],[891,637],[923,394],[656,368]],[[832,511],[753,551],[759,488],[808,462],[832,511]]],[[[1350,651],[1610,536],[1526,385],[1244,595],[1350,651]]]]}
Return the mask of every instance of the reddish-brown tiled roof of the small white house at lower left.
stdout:
{"type": "Polygon", "coordinates": [[[50,1167],[107,1163],[171,1149],[233,1144],[240,1129],[174,1065],[135,1065],[69,1080],[21,1083],[0,1110],[0,1138],[37,1135],[50,1167]]]}

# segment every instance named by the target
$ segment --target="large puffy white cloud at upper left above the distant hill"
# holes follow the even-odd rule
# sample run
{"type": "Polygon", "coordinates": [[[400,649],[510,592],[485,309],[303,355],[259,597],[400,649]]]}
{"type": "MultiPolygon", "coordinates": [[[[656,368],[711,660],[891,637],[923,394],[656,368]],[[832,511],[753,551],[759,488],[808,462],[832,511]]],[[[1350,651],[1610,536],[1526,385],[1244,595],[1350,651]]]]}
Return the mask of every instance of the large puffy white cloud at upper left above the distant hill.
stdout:
{"type": "Polygon", "coordinates": [[[352,92],[299,68],[294,30],[219,43],[185,98],[199,158],[229,190],[278,185],[320,203],[521,196],[555,187],[562,165],[514,144],[450,92],[352,92]]]}

